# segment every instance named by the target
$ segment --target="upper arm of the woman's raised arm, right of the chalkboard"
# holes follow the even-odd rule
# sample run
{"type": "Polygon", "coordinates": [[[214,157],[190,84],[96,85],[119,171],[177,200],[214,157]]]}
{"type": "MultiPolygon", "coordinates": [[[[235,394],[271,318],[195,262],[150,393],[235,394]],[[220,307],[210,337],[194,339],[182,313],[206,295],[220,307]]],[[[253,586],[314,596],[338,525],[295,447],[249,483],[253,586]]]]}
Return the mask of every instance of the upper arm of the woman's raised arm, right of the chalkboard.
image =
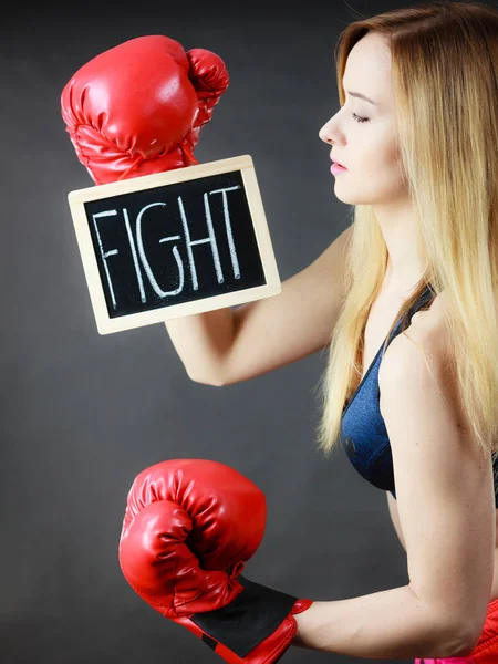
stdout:
{"type": "Polygon", "coordinates": [[[220,369],[224,385],[246,381],[326,346],[344,289],[347,227],[311,264],[282,281],[278,295],[235,311],[234,342],[220,369]]]}

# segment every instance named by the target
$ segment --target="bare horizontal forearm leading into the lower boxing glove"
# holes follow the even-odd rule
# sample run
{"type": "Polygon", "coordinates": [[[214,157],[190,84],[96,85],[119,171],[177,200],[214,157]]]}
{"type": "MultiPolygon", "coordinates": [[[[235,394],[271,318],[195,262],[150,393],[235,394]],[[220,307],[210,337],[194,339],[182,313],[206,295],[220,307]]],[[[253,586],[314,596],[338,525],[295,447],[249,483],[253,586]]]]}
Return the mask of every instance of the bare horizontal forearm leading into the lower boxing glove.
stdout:
{"type": "Polygon", "coordinates": [[[464,639],[438,626],[436,615],[408,585],[360,598],[314,602],[294,616],[292,645],[364,657],[456,657],[465,654],[464,639]]]}

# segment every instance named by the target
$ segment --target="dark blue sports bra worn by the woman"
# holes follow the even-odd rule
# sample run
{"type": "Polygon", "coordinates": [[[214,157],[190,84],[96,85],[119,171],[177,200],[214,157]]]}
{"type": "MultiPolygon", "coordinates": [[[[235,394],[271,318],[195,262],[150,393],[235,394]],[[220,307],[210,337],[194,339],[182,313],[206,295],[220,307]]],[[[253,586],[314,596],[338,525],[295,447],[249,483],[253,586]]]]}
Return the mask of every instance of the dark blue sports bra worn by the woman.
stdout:
{"type": "MultiPolygon", "coordinates": [[[[427,284],[419,299],[407,312],[407,324],[409,324],[412,315],[428,304],[432,298],[433,290],[427,284]]],[[[402,323],[403,317],[392,330],[387,345],[401,333],[402,323]]],[[[378,489],[390,491],[396,498],[391,444],[378,405],[378,369],[384,355],[383,346],[384,342],[351,400],[343,408],[340,443],[353,467],[366,481],[378,489]]],[[[495,506],[498,508],[498,456],[494,460],[494,471],[495,506]]]]}

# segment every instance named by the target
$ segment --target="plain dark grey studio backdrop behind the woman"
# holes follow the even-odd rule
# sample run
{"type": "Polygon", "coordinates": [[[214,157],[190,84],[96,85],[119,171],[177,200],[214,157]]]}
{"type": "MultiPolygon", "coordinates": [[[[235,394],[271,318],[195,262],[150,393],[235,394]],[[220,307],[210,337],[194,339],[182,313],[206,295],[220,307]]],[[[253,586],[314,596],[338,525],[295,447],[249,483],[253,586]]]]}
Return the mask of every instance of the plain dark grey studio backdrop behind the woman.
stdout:
{"type": "MultiPolygon", "coordinates": [[[[313,600],[407,582],[385,492],[342,452],[325,460],[314,449],[321,404],[313,391],[325,354],[217,388],[189,380],[162,323],[97,333],[66,199],[93,181],[59,102],[80,66],[134,37],[166,34],[185,50],[220,55],[230,86],[195,154],[200,163],[252,156],[283,281],[350,222],[318,137],[339,108],[336,38],[361,15],[403,6],[8,9],[0,28],[2,664],[221,662],[143,602],[118,567],[129,486],[165,459],[215,459],[264,491],[267,530],[249,579],[313,600]]],[[[290,649],[284,661],[353,658],[290,649]]]]}

